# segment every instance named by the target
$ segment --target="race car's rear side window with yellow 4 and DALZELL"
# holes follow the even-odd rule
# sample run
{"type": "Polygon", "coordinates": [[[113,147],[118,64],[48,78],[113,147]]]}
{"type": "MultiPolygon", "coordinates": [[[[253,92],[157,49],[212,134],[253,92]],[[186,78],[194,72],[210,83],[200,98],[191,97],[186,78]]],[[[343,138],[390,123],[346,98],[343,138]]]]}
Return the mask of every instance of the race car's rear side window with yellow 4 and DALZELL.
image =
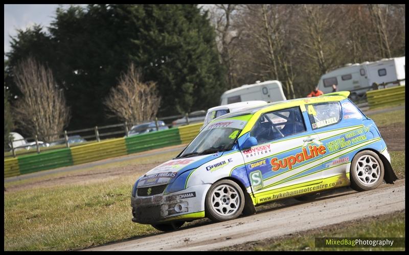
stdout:
{"type": "Polygon", "coordinates": [[[341,119],[339,102],[306,105],[312,129],[338,123],[341,119]]]}

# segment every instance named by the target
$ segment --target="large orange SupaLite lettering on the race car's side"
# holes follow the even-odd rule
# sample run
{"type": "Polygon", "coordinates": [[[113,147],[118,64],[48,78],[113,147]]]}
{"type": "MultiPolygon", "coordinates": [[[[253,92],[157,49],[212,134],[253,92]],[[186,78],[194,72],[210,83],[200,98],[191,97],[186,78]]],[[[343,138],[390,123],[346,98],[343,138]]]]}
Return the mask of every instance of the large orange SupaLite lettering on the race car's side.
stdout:
{"type": "Polygon", "coordinates": [[[316,145],[314,146],[309,145],[308,149],[303,148],[300,153],[297,153],[294,156],[288,156],[283,159],[278,159],[277,157],[272,158],[270,162],[272,166],[271,170],[278,171],[282,168],[287,167],[289,170],[291,170],[292,166],[296,165],[297,163],[302,163],[305,160],[317,157],[319,155],[323,155],[326,152],[327,151],[324,145],[320,145],[318,147],[316,145]]]}

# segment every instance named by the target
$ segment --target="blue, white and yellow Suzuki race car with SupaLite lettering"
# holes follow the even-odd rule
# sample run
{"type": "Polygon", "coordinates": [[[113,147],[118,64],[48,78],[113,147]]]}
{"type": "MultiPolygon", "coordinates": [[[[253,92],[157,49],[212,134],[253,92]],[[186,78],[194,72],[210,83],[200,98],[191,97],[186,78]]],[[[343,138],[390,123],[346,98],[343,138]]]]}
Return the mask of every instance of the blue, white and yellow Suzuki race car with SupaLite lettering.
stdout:
{"type": "Polygon", "coordinates": [[[278,199],[393,183],[387,145],[349,91],[275,102],[213,120],[174,159],[140,177],[132,221],[173,230],[225,221],[278,199]]]}

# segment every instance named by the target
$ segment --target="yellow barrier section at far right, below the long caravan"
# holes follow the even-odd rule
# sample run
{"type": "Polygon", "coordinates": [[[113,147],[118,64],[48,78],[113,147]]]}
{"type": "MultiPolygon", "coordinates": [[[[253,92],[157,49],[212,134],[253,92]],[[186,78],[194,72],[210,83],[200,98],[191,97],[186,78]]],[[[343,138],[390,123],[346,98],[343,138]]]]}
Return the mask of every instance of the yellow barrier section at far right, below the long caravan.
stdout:
{"type": "Polygon", "coordinates": [[[405,85],[367,91],[369,108],[405,102],[405,85]]]}

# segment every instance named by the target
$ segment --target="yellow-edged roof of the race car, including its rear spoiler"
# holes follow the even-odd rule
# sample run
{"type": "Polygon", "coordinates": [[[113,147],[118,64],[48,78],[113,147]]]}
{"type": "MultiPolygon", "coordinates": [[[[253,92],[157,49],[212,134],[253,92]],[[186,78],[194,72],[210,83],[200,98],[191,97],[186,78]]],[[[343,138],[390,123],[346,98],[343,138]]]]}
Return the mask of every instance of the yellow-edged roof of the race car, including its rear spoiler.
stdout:
{"type": "Polygon", "coordinates": [[[301,106],[304,104],[335,102],[335,101],[340,101],[340,100],[344,100],[348,98],[349,94],[350,94],[349,91],[338,91],[338,92],[333,92],[329,94],[324,94],[319,97],[297,98],[297,99],[278,101],[278,102],[269,103],[269,104],[262,105],[262,106],[249,107],[243,110],[235,111],[232,113],[227,113],[227,114],[221,115],[220,117],[214,119],[213,121],[229,119],[229,118],[234,118],[234,117],[248,115],[248,114],[257,113],[257,115],[259,115],[264,112],[280,110],[280,109],[285,109],[289,107],[296,107],[296,106],[301,106]]]}

